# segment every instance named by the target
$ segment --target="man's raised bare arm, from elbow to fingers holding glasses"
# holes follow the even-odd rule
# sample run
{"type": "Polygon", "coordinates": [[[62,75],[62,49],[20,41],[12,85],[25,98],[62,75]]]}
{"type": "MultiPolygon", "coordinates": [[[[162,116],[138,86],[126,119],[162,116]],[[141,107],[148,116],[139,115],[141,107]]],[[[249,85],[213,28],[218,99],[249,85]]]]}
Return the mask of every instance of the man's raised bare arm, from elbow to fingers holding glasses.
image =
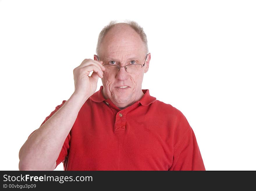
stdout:
{"type": "Polygon", "coordinates": [[[40,126],[19,151],[19,170],[54,170],[56,160],[79,110],[95,92],[105,68],[99,61],[85,59],[74,69],[75,91],[65,104],[40,126]],[[91,76],[90,72],[94,71],[91,76]]]}

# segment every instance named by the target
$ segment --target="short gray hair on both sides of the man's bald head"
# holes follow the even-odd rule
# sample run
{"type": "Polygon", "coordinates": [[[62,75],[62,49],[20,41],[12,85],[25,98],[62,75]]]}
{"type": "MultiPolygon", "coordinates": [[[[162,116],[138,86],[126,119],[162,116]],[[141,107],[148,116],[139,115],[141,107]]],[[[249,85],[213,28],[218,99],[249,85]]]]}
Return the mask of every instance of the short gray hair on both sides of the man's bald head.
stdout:
{"type": "MultiPolygon", "coordinates": [[[[102,31],[99,33],[99,37],[98,37],[98,43],[97,43],[97,47],[96,47],[96,53],[99,53],[99,46],[102,43],[102,40],[104,38],[104,36],[106,35],[106,33],[113,28],[118,22],[117,21],[111,21],[109,22],[109,24],[107,26],[104,26],[104,28],[102,29],[102,31]]],[[[124,23],[128,24],[131,28],[133,28],[141,37],[141,40],[143,41],[143,43],[145,44],[146,47],[146,51],[148,53],[148,46],[147,46],[147,35],[145,34],[143,28],[135,21],[125,21],[124,23]]]]}

